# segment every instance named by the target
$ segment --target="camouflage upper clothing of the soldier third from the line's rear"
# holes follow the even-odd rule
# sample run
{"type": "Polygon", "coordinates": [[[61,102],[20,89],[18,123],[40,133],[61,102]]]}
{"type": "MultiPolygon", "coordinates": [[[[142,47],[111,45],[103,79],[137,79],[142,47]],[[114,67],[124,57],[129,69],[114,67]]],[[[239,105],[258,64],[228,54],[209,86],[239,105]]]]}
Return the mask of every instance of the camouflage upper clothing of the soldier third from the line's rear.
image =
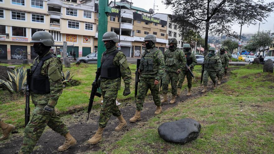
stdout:
{"type": "Polygon", "coordinates": [[[212,56],[207,54],[203,65],[204,69],[207,71],[220,71],[222,69],[221,59],[216,54],[213,54],[212,56]]]}

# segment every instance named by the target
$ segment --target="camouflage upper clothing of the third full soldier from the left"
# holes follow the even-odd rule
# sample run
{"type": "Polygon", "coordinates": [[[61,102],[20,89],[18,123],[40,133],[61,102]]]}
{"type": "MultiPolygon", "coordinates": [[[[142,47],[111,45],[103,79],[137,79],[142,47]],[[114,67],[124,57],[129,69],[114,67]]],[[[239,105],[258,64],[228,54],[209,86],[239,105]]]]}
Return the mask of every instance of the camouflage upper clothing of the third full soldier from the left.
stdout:
{"type": "Polygon", "coordinates": [[[155,78],[160,81],[164,74],[164,56],[161,50],[155,48],[144,49],[141,55],[139,70],[141,77],[155,78]]]}

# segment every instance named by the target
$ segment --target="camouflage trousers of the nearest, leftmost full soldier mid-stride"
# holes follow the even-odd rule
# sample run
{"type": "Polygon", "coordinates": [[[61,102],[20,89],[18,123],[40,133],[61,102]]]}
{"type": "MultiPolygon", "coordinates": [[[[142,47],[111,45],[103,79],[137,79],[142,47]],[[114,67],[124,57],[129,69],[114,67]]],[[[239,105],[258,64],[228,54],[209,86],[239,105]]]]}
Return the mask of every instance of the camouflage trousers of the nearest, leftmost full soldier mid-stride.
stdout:
{"type": "Polygon", "coordinates": [[[31,119],[25,128],[24,141],[19,154],[32,152],[47,125],[62,136],[69,132],[67,126],[56,115],[55,110],[52,114],[43,112],[45,106],[46,104],[35,105],[31,119]]]}

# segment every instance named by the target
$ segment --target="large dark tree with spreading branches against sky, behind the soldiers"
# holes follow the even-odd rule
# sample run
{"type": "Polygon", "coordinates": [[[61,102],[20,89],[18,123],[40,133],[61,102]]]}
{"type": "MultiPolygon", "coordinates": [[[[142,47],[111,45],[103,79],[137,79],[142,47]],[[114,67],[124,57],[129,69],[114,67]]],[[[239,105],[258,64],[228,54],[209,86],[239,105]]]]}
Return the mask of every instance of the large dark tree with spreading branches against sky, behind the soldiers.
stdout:
{"type": "Polygon", "coordinates": [[[208,33],[237,38],[231,31],[232,23],[256,24],[273,11],[274,2],[262,0],[164,0],[173,9],[172,22],[184,30],[205,32],[205,54],[207,54],[208,33]]]}

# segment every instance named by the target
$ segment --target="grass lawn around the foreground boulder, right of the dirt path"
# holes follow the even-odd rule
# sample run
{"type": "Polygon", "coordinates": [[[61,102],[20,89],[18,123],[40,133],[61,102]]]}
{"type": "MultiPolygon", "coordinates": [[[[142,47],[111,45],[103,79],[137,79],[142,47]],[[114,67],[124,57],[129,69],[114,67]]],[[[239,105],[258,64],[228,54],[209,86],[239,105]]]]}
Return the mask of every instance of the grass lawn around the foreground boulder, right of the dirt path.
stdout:
{"type": "Polygon", "coordinates": [[[178,103],[96,153],[274,153],[274,75],[262,72],[262,66],[233,70],[214,91],[178,103]],[[201,123],[196,140],[182,145],[160,138],[160,124],[182,118],[201,123]]]}

